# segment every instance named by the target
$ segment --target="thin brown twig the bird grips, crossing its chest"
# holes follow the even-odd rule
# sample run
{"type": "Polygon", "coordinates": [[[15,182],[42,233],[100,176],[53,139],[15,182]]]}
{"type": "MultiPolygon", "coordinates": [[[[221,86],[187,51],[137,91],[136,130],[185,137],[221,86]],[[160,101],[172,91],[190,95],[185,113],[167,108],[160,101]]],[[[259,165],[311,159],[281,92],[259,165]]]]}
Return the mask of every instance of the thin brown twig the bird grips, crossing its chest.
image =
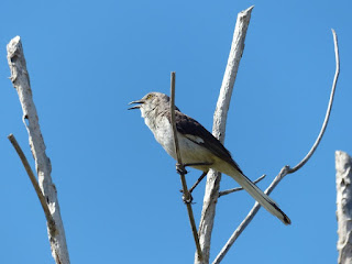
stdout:
{"type": "Polygon", "coordinates": [[[179,152],[179,147],[178,147],[178,139],[177,139],[177,130],[176,130],[176,122],[175,122],[175,72],[172,72],[172,80],[170,80],[170,113],[172,113],[172,124],[173,124],[173,133],[174,133],[174,142],[175,142],[175,152],[176,152],[176,156],[177,156],[177,164],[176,164],[176,168],[177,172],[180,175],[180,180],[183,184],[183,189],[184,189],[184,199],[185,199],[185,204],[187,207],[187,212],[188,212],[188,218],[189,218],[189,222],[190,222],[190,227],[191,227],[191,231],[194,234],[194,239],[195,239],[195,243],[196,243],[196,248],[197,248],[197,253],[198,253],[198,260],[200,262],[202,262],[202,253],[201,253],[201,249],[200,249],[200,244],[199,244],[199,238],[198,238],[198,232],[197,232],[197,227],[196,227],[196,221],[195,221],[195,217],[194,217],[194,211],[191,209],[191,196],[188,191],[188,187],[187,187],[187,183],[186,183],[186,177],[185,177],[185,166],[183,164],[182,161],[182,156],[180,156],[180,152],[179,152]]]}

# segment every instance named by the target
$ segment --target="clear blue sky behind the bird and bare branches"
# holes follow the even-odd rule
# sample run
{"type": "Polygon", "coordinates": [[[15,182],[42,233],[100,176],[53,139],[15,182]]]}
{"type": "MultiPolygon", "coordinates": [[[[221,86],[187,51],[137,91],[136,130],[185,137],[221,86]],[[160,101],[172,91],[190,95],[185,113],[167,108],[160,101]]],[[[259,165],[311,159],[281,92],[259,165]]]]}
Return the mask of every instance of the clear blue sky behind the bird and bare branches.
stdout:
{"type": "MultiPolygon", "coordinates": [[[[175,162],[127,103],[148,91],[211,130],[238,12],[255,4],[228,119],[226,146],[266,188],[320,130],[334,74],[331,121],[316,154],[272,194],[293,224],[261,209],[223,263],[336,263],[334,151],[352,154],[351,8],[343,1],[9,1],[0,3],[0,258],[54,263],[45,219],[7,135],[29,158],[6,45],[22,37],[52,160],[72,263],[193,263],[195,245],[175,162]]],[[[34,168],[31,160],[32,167],[34,168]]],[[[189,185],[199,176],[191,170],[189,185]]],[[[197,223],[204,184],[196,190],[197,223]]],[[[221,188],[237,184],[223,176],[221,188]]],[[[219,201],[211,260],[253,199],[219,201]]]]}

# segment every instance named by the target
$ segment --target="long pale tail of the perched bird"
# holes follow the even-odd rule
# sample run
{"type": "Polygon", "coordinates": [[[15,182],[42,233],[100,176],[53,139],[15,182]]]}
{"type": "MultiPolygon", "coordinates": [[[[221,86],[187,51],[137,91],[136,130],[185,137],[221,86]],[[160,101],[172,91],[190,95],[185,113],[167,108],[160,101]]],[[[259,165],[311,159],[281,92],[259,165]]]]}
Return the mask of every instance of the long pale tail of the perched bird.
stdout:
{"type": "Polygon", "coordinates": [[[278,208],[276,202],[265,195],[255,184],[253,184],[246,176],[239,170],[233,169],[230,176],[238,182],[262,207],[264,207],[272,215],[277,217],[285,224],[290,224],[289,218],[278,208]]]}

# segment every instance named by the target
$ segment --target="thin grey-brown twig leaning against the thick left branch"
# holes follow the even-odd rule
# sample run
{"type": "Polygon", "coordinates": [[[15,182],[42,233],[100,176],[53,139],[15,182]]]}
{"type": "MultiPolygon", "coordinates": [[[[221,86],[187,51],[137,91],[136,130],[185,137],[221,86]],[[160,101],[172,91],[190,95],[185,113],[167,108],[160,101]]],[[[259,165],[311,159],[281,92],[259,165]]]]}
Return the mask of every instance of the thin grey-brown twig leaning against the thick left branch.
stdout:
{"type": "Polygon", "coordinates": [[[31,179],[31,183],[32,183],[32,185],[34,187],[34,190],[35,190],[35,193],[37,195],[37,198],[41,201],[42,208],[44,210],[45,218],[46,218],[46,221],[48,223],[47,227],[50,229],[50,232],[51,232],[52,235],[54,235],[55,232],[56,232],[55,221],[54,221],[54,219],[53,219],[53,217],[51,215],[51,210],[48,209],[48,206],[46,204],[46,199],[45,199],[45,197],[44,197],[44,195],[43,195],[43,193],[41,190],[40,185],[37,184],[36,177],[35,177],[35,175],[34,175],[34,173],[33,173],[33,170],[31,168],[31,165],[30,165],[29,161],[26,160],[26,157],[25,157],[21,146],[19,145],[18,141],[15,140],[14,135],[13,134],[9,134],[8,139],[10,140],[10,142],[11,142],[12,146],[14,147],[14,150],[16,151],[16,153],[18,153],[18,155],[19,155],[19,157],[20,157],[20,160],[21,160],[21,162],[22,162],[22,164],[23,164],[23,166],[25,168],[25,172],[26,172],[26,174],[29,175],[29,177],[31,179]]]}

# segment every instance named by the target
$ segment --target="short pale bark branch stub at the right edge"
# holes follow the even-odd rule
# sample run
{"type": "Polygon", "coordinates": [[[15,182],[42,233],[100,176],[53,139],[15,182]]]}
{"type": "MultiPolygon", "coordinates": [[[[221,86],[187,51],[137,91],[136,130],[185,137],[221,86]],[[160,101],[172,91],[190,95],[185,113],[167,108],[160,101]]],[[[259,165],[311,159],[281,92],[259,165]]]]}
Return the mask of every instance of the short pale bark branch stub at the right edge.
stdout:
{"type": "Polygon", "coordinates": [[[336,152],[339,264],[352,263],[352,158],[336,152]]]}

